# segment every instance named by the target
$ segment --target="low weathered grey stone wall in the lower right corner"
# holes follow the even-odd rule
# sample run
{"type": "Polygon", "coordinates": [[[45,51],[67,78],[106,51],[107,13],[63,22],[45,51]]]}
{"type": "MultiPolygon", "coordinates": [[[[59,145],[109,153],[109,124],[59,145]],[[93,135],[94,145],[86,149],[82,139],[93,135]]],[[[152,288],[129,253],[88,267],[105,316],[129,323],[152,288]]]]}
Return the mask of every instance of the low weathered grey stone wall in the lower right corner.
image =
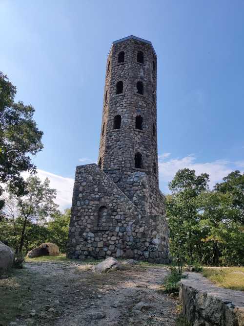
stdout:
{"type": "Polygon", "coordinates": [[[214,285],[199,273],[181,280],[183,315],[193,326],[244,326],[244,292],[214,285]]]}

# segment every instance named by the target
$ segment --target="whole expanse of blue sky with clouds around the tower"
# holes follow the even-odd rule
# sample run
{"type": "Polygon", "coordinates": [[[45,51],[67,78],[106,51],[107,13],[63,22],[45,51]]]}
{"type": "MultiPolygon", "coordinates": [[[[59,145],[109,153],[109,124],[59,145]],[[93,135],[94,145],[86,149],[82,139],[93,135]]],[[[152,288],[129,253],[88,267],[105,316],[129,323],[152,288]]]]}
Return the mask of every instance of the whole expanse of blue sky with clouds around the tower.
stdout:
{"type": "Polygon", "coordinates": [[[97,160],[106,56],[128,35],[158,55],[161,189],[183,167],[210,186],[244,170],[244,1],[0,0],[0,70],[36,109],[34,162],[62,207],[75,166],[97,160]]]}

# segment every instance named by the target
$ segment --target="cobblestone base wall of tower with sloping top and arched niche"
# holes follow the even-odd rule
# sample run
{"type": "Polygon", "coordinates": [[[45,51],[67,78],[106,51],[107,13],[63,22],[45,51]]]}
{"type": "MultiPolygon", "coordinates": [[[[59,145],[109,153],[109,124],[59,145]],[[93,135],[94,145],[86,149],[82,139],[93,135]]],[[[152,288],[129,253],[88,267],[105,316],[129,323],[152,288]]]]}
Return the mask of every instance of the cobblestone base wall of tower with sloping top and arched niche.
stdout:
{"type": "Polygon", "coordinates": [[[143,215],[97,164],[78,166],[67,256],[114,256],[167,263],[165,216],[143,215]]]}

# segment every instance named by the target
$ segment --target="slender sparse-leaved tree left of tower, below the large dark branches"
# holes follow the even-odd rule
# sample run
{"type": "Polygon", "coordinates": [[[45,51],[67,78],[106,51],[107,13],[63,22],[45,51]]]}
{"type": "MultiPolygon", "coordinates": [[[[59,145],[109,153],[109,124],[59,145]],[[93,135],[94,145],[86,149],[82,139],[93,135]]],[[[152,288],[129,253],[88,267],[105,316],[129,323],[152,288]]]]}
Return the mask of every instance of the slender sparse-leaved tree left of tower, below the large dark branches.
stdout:
{"type": "MultiPolygon", "coordinates": [[[[54,203],[56,189],[49,187],[50,181],[46,178],[43,183],[37,176],[30,176],[26,180],[26,194],[19,196],[12,187],[8,188],[10,205],[3,208],[4,220],[8,222],[9,230],[15,243],[16,253],[21,252],[24,242],[33,238],[32,224],[45,226],[49,216],[57,211],[54,203]],[[14,207],[14,210],[12,209],[14,207]]],[[[28,245],[27,245],[28,247],[28,245]]]]}

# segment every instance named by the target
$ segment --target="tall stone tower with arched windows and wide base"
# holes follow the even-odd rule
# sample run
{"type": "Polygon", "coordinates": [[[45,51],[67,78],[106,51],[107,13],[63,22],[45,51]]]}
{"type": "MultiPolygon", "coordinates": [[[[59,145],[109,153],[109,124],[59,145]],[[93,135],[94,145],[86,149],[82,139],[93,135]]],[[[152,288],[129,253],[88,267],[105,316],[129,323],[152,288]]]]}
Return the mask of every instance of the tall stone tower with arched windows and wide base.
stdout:
{"type": "Polygon", "coordinates": [[[98,165],[77,166],[67,255],[168,262],[159,190],[157,55],[135,36],[115,41],[106,65],[98,165]]]}

